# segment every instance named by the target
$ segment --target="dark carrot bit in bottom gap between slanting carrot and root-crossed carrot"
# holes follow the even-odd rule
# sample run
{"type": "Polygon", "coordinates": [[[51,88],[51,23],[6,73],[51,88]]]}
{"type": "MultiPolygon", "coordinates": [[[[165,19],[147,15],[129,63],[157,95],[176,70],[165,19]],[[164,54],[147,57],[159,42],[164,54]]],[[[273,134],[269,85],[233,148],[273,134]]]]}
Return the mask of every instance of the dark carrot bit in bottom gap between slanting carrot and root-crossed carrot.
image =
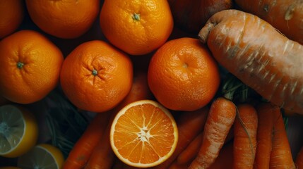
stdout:
{"type": "Polygon", "coordinates": [[[233,145],[233,142],[224,144],[220,150],[218,158],[216,158],[215,162],[210,165],[209,169],[232,169],[232,161],[234,161],[234,156],[232,156],[234,151],[233,145]]]}

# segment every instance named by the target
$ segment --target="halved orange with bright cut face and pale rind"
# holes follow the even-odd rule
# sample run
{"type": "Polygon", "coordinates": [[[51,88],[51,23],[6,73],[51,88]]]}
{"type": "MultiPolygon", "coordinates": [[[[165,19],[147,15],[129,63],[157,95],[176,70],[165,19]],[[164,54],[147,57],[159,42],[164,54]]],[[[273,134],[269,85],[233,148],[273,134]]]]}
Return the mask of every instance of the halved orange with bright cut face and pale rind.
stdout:
{"type": "Polygon", "coordinates": [[[170,158],[178,142],[174,117],[157,101],[141,100],[117,113],[110,130],[114,154],[133,167],[148,168],[170,158]]]}

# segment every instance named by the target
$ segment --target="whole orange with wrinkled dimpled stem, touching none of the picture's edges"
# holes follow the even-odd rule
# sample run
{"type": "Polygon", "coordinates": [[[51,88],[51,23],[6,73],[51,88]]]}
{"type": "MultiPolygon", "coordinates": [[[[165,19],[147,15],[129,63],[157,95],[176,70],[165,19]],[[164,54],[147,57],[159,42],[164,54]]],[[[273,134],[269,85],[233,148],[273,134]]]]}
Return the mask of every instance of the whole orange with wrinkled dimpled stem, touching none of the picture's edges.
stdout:
{"type": "Polygon", "coordinates": [[[64,94],[78,108],[104,112],[114,108],[131,90],[131,59],[107,42],[94,40],[76,47],[61,69],[64,94]]]}

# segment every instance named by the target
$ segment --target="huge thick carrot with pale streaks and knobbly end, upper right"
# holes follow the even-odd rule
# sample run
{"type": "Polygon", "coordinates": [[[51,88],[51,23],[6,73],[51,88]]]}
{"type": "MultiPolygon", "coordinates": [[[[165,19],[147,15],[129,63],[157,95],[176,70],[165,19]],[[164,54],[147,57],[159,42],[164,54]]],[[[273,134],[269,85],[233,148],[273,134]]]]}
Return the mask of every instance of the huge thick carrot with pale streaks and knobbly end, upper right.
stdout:
{"type": "Polygon", "coordinates": [[[198,34],[214,58],[263,98],[303,114],[303,46],[256,15],[215,13],[198,34]]]}

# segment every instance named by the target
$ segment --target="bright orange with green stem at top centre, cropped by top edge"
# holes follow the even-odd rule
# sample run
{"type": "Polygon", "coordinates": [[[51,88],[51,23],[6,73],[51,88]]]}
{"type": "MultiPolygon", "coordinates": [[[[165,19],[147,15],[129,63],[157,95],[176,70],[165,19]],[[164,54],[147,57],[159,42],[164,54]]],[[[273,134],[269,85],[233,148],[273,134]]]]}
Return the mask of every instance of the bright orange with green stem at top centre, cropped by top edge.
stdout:
{"type": "Polygon", "coordinates": [[[105,0],[100,26],[114,46],[131,55],[143,55],[166,42],[173,18],[167,1],[105,0]]]}

